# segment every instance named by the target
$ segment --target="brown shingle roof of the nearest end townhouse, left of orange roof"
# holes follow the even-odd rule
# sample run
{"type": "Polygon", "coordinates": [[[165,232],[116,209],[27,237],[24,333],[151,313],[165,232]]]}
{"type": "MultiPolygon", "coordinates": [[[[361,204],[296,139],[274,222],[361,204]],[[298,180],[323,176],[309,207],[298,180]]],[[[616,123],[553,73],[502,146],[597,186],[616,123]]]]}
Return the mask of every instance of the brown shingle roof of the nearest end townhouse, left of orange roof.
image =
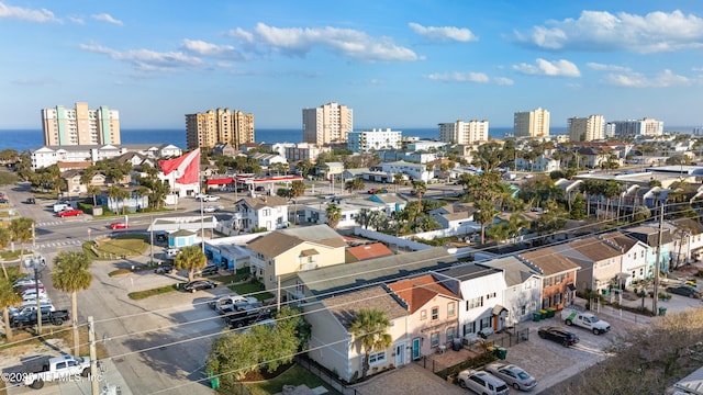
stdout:
{"type": "Polygon", "coordinates": [[[379,285],[328,297],[322,303],[337,318],[339,324],[347,329],[361,309],[378,309],[386,313],[386,317],[389,320],[408,315],[405,307],[379,285]]]}

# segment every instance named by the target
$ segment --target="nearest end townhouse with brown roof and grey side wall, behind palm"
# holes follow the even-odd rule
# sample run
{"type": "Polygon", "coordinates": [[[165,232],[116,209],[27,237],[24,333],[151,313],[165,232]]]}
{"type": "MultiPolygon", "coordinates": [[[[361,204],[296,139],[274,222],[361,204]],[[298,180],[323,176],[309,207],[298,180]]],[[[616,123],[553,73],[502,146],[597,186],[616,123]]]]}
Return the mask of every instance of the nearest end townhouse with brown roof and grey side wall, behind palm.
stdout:
{"type": "Polygon", "coordinates": [[[406,336],[408,309],[386,287],[377,285],[316,301],[302,306],[311,326],[308,357],[345,382],[362,376],[366,350],[349,331],[359,311],[382,312],[390,321],[388,349],[369,356],[368,374],[411,363],[411,343],[406,336]]]}

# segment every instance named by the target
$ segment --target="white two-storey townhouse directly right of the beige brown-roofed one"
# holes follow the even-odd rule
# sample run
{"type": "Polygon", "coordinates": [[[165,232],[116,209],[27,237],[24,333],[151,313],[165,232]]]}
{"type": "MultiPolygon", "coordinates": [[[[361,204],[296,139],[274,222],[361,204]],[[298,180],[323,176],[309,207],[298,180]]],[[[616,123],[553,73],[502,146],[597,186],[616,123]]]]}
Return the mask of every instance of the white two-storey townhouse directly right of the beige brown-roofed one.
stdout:
{"type": "Polygon", "coordinates": [[[620,289],[632,285],[633,282],[646,280],[647,251],[649,246],[622,232],[611,232],[598,236],[611,245],[617,246],[622,251],[622,268],[616,283],[620,289]]]}

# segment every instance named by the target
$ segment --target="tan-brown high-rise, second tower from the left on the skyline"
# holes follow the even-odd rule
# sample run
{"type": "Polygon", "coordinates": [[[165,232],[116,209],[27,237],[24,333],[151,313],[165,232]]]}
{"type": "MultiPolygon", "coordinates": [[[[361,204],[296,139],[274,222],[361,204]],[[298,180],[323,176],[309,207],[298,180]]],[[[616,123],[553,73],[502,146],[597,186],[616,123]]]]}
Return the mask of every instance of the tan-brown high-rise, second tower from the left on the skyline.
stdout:
{"type": "Polygon", "coordinates": [[[239,149],[239,144],[254,142],[254,114],[230,109],[186,114],[188,149],[212,148],[217,143],[228,143],[235,149],[239,149]]]}

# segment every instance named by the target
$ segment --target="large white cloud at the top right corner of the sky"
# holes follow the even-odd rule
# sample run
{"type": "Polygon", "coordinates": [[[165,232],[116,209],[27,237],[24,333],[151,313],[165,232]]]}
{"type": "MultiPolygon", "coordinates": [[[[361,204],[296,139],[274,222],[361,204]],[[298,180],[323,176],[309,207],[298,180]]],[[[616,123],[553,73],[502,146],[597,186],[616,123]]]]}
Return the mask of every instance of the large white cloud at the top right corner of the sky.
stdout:
{"type": "Polygon", "coordinates": [[[676,10],[646,15],[582,11],[579,19],[548,21],[518,42],[549,50],[656,53],[703,47],[703,19],[676,10]]]}

